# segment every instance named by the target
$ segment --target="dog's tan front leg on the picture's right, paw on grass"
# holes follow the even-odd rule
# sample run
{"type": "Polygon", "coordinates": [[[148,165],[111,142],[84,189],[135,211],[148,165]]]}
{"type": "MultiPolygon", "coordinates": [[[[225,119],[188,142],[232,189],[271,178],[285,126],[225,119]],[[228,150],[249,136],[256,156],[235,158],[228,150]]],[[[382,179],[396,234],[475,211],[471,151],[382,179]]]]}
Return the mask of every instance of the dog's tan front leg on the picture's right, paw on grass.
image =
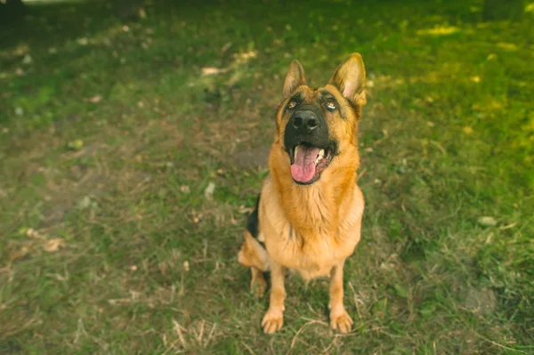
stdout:
{"type": "Polygon", "coordinates": [[[330,327],[347,333],[352,327],[352,318],[343,305],[343,266],[344,261],[339,262],[330,271],[330,327]]]}

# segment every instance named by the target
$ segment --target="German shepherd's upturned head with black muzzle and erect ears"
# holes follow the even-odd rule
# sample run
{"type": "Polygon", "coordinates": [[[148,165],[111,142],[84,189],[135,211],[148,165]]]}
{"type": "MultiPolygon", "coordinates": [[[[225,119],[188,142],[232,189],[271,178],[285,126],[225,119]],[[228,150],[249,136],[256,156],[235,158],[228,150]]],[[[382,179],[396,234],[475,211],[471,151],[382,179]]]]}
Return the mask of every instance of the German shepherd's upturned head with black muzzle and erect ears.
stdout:
{"type": "MultiPolygon", "coordinates": [[[[277,111],[276,141],[287,153],[287,165],[297,184],[320,180],[329,165],[358,165],[357,133],[360,109],[366,103],[365,68],[353,53],[318,89],[306,85],[303,66],[293,61],[277,111]]],[[[280,164],[280,163],[279,163],[280,164]]]]}

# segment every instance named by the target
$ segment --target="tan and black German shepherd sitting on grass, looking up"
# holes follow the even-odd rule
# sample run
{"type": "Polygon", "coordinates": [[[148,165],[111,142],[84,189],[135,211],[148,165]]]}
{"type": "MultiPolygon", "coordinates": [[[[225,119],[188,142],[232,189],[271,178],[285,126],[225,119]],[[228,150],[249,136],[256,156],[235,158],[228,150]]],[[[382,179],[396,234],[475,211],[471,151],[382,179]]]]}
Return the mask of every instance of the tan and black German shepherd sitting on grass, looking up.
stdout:
{"type": "Polygon", "coordinates": [[[306,85],[293,61],[283,101],[276,112],[277,133],[255,211],[249,216],[239,263],[252,271],[251,290],[263,295],[263,272],[271,270],[271,299],[262,320],[274,333],[284,323],[287,269],[309,280],[330,278],[330,325],[346,333],[352,319],[343,304],[343,267],[360,241],[363,196],[356,185],[358,123],[365,98],[365,68],[353,53],[327,85],[306,85]]]}

